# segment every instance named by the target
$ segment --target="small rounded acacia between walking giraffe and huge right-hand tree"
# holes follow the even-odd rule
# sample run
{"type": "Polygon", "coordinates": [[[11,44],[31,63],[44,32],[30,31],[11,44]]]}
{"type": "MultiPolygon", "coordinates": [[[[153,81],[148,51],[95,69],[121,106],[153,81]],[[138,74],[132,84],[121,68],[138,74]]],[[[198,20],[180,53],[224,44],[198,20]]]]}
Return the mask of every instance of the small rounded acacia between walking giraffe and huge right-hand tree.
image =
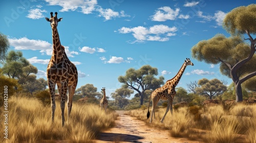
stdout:
{"type": "Polygon", "coordinates": [[[223,85],[223,82],[221,82],[218,79],[201,79],[198,81],[199,87],[197,87],[196,91],[198,94],[208,96],[210,100],[214,96],[219,96],[220,94],[223,94],[227,90],[227,86],[223,85]]]}

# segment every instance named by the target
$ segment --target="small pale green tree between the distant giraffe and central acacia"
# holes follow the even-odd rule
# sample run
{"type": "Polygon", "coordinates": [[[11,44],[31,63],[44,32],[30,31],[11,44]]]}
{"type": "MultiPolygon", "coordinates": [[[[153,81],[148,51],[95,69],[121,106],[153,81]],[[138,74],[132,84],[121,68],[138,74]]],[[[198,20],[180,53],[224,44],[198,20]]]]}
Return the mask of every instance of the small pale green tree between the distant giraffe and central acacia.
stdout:
{"type": "Polygon", "coordinates": [[[134,91],[122,86],[115,90],[115,92],[111,93],[111,97],[115,99],[115,104],[117,104],[120,108],[123,108],[125,105],[129,103],[128,99],[134,91]]]}

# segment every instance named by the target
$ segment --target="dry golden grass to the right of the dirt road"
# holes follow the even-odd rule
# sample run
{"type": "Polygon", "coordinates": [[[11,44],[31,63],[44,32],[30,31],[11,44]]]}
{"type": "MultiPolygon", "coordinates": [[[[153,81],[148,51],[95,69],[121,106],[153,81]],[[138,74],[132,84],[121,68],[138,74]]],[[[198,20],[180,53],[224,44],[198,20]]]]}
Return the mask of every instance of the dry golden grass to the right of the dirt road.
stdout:
{"type": "MultiPolygon", "coordinates": [[[[173,115],[158,108],[155,121],[147,120],[147,109],[127,111],[149,126],[169,130],[170,136],[202,142],[256,142],[256,105],[222,104],[211,106],[176,107],[173,115]]],[[[151,113],[151,110],[150,110],[151,113]]]]}

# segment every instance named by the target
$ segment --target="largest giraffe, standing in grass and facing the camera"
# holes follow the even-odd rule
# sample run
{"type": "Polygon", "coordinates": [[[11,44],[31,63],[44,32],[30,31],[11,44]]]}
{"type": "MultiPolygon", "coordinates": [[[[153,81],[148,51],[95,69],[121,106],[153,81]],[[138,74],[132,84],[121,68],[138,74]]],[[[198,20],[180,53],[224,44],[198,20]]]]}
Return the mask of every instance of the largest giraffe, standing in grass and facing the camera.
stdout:
{"type": "Polygon", "coordinates": [[[68,94],[68,120],[72,108],[72,98],[75,93],[78,74],[76,66],[69,60],[65,53],[64,47],[60,44],[59,34],[57,31],[58,22],[62,18],[57,18],[57,12],[53,16],[51,12],[51,18],[46,20],[51,23],[52,27],[52,41],[53,41],[53,54],[50,62],[47,66],[47,79],[48,86],[51,93],[51,108],[52,108],[52,122],[54,122],[54,112],[55,112],[55,86],[57,84],[59,95],[60,95],[60,108],[61,108],[61,118],[62,126],[65,124],[64,110],[65,110],[65,98],[67,91],[68,94]]]}

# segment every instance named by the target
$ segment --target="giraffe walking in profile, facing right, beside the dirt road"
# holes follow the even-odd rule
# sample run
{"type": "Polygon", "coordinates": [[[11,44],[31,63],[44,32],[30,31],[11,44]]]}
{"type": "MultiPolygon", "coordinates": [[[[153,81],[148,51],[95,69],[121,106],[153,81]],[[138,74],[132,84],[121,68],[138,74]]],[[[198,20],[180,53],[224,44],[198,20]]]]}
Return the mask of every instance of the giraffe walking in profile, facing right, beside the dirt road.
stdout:
{"type": "MultiPolygon", "coordinates": [[[[182,64],[179,72],[177,73],[177,75],[174,78],[166,81],[162,87],[159,87],[152,92],[152,94],[151,94],[152,112],[151,112],[150,123],[152,122],[153,114],[154,114],[154,120],[155,120],[155,107],[160,99],[168,100],[167,109],[166,109],[166,112],[165,112],[163,118],[161,119],[161,123],[163,123],[164,117],[167,114],[167,112],[169,111],[169,109],[170,109],[170,113],[173,114],[173,99],[176,94],[175,87],[179,83],[180,78],[181,78],[182,74],[184,73],[184,70],[187,65],[194,65],[189,60],[189,58],[188,59],[186,58],[185,62],[182,64]]],[[[151,100],[151,98],[150,98],[150,100],[151,100]]],[[[146,116],[147,116],[147,118],[150,117],[150,103],[148,103],[148,109],[147,109],[146,116]]]]}

